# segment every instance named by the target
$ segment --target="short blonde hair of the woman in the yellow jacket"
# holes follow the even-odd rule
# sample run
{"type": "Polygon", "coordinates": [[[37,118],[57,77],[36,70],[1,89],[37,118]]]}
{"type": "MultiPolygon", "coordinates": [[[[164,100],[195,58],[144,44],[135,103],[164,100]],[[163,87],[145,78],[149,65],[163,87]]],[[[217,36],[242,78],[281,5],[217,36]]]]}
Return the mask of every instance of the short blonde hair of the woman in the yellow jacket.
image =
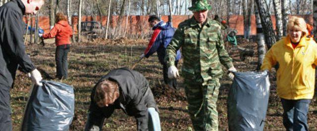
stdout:
{"type": "Polygon", "coordinates": [[[302,36],[306,36],[308,34],[307,31],[307,26],[306,26],[306,22],[303,18],[301,17],[297,17],[297,16],[292,16],[287,23],[287,32],[290,29],[295,29],[295,30],[299,30],[302,31],[304,33],[304,35],[302,36]]]}

